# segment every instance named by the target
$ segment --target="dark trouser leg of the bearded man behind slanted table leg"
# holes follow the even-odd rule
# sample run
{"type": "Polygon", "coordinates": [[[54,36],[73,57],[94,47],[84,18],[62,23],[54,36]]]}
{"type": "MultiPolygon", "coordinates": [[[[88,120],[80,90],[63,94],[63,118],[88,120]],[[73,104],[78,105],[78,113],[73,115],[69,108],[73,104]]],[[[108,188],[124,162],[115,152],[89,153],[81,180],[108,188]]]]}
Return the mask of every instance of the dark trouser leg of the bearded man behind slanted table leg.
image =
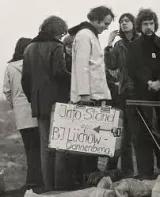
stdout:
{"type": "MultiPolygon", "coordinates": [[[[152,119],[152,109],[150,107],[143,107],[141,109],[145,121],[149,125],[152,119]]],[[[149,177],[153,175],[154,171],[153,140],[139,115],[137,115],[136,124],[137,130],[134,145],[138,172],[141,177],[149,177]]]]}

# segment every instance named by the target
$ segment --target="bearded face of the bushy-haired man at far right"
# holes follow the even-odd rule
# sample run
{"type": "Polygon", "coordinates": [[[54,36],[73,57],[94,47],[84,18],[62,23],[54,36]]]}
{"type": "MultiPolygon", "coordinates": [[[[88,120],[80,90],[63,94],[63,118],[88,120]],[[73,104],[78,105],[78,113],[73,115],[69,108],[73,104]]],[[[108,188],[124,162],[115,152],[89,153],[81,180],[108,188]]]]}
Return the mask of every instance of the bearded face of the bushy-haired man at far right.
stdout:
{"type": "Polygon", "coordinates": [[[142,21],[142,33],[146,36],[151,36],[155,32],[154,20],[142,21]]]}

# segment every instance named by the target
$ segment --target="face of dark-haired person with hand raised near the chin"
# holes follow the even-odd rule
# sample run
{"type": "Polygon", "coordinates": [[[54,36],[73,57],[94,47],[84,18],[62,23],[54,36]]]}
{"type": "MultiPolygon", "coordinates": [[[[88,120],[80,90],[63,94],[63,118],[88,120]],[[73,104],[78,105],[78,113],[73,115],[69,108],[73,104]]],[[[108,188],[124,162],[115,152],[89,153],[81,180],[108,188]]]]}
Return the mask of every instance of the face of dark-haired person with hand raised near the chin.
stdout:
{"type": "Polygon", "coordinates": [[[121,20],[120,20],[120,28],[122,30],[122,32],[130,32],[133,30],[133,23],[132,21],[130,21],[130,19],[127,16],[124,16],[121,20]]]}

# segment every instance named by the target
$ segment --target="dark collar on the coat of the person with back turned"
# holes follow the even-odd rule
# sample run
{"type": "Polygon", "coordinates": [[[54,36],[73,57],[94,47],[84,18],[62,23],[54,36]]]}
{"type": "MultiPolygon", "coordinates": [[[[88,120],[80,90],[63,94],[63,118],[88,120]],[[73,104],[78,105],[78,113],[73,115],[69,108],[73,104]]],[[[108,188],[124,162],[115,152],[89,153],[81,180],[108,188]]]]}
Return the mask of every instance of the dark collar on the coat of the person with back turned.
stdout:
{"type": "Polygon", "coordinates": [[[55,42],[63,44],[63,42],[61,42],[57,38],[43,31],[40,31],[38,36],[33,38],[31,42],[47,42],[47,41],[55,41],[55,42]]]}

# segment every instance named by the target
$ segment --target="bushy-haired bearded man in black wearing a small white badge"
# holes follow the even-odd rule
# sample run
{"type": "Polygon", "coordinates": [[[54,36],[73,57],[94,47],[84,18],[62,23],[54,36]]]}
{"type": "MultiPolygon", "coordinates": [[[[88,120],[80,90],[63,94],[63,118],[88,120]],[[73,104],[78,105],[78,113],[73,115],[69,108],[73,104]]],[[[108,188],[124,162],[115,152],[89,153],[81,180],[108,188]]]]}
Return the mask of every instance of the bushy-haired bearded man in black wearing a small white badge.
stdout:
{"type": "MultiPolygon", "coordinates": [[[[138,100],[159,101],[160,99],[160,38],[155,34],[158,19],[155,12],[142,9],[136,19],[137,31],[141,33],[129,49],[127,65],[129,75],[135,86],[135,98],[138,100]]],[[[139,107],[150,128],[152,128],[153,109],[139,107]]],[[[160,117],[159,110],[156,110],[160,117]]],[[[152,178],[154,173],[154,155],[160,168],[160,151],[155,146],[148,130],[140,117],[135,114],[135,151],[137,167],[141,178],[152,178]]],[[[160,127],[159,127],[160,128],[160,127]]],[[[157,131],[160,134],[160,131],[157,131]]],[[[157,138],[160,142],[160,139],[157,138]]]]}

